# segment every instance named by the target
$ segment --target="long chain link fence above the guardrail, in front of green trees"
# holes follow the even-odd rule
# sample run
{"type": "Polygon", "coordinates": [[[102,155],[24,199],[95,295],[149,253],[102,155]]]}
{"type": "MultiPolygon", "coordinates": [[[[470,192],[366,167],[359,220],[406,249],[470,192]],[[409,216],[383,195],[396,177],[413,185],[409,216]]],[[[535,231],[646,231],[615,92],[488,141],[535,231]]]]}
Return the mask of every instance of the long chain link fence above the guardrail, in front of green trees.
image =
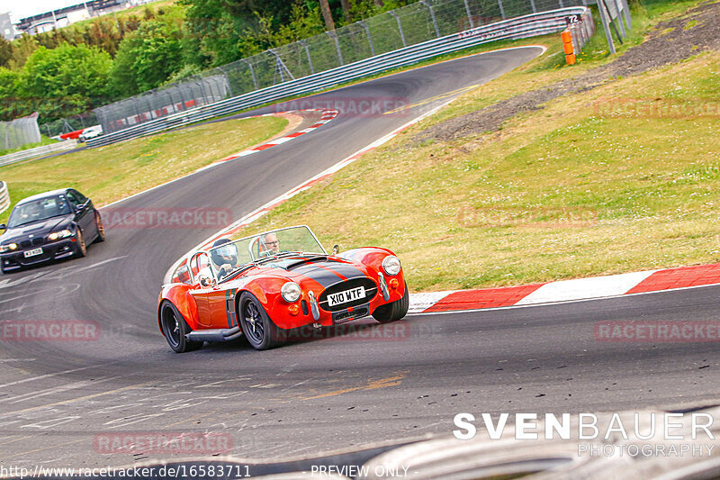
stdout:
{"type": "Polygon", "coordinates": [[[105,133],[119,131],[485,24],[594,1],[420,0],[333,32],[266,50],[170,86],[96,108],[94,113],[105,133]]]}

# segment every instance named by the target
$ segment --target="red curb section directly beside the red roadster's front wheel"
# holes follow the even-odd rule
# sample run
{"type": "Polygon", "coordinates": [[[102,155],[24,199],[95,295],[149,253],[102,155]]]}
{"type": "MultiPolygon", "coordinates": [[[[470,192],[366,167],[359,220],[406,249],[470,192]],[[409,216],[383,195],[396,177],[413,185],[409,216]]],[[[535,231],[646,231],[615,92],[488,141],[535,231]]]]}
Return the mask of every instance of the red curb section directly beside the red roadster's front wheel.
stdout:
{"type": "Polygon", "coordinates": [[[449,312],[452,310],[470,310],[475,308],[508,307],[518,303],[545,284],[508,286],[501,288],[483,288],[482,290],[464,290],[447,295],[430,308],[428,312],[449,312]]]}

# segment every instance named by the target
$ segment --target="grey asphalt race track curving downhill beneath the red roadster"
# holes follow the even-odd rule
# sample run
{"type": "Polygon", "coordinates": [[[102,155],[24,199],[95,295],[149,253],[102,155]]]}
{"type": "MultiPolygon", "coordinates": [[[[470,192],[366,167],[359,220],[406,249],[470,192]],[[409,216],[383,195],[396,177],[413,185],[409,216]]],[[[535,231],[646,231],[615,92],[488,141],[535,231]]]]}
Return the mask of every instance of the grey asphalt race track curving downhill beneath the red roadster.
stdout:
{"type": "MultiPolygon", "coordinates": [[[[422,103],[498,77],[540,51],[457,59],[313,98],[422,103]]],[[[238,219],[442,101],[399,115],[341,112],[290,143],[116,206],[228,208],[238,219]]],[[[387,198],[368,208],[401,204],[387,198]]],[[[168,459],[94,446],[98,434],[130,431],[229,433],[231,455],[280,461],[447,436],[459,412],[608,412],[710,404],[718,396],[716,343],[608,343],[593,335],[601,321],[716,321],[716,286],[411,315],[391,332],[371,319],[349,334],[264,352],[238,340],[177,355],[157,329],[160,283],[175,259],[217,230],[116,228],[86,258],[0,276],[0,320],[96,322],[100,331],[91,341],[2,342],[4,465],[168,459]]]]}

